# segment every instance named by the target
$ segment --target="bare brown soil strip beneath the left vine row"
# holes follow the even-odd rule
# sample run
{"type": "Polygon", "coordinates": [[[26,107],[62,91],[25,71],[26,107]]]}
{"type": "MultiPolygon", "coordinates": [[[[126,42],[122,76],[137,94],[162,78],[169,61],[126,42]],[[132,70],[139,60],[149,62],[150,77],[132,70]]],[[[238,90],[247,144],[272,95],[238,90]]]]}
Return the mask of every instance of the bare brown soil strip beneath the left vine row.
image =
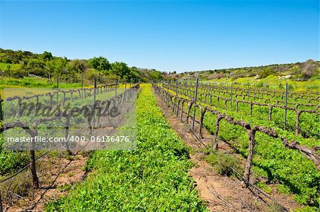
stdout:
{"type": "Polygon", "coordinates": [[[4,211],[44,211],[46,203],[67,195],[68,187],[82,180],[86,160],[87,155],[81,154],[71,156],[70,160],[44,158],[37,172],[41,188],[16,201],[14,206],[4,206],[4,211]]]}

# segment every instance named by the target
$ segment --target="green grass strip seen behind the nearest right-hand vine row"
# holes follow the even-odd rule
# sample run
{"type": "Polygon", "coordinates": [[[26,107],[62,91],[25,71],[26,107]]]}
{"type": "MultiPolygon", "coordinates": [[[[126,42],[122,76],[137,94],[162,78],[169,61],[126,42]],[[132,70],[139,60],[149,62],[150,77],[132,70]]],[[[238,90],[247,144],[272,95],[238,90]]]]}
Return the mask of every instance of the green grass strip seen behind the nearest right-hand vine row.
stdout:
{"type": "MultiPolygon", "coordinates": [[[[207,106],[206,104],[202,105],[207,106]]],[[[289,140],[298,140],[299,143],[303,145],[319,143],[319,140],[315,138],[304,139],[300,135],[292,135],[292,133],[281,130],[269,123],[267,124],[265,121],[257,121],[255,117],[250,118],[250,116],[245,116],[243,113],[235,113],[234,111],[215,108],[214,106],[211,106],[211,108],[218,109],[218,111],[228,114],[235,118],[235,120],[246,121],[251,125],[265,125],[274,128],[278,135],[284,136],[289,140]]],[[[183,110],[187,111],[187,108],[183,110]]],[[[191,114],[192,113],[193,110],[191,110],[191,114]]],[[[198,110],[196,114],[199,116],[198,110]]],[[[216,116],[211,113],[206,113],[203,119],[203,125],[210,133],[215,132],[215,121],[216,116]]],[[[247,157],[248,138],[247,132],[243,130],[243,128],[221,121],[218,136],[220,140],[230,143],[242,157],[247,157]]],[[[320,174],[314,163],[304,157],[302,153],[284,147],[282,141],[279,139],[273,139],[268,135],[258,132],[255,140],[255,155],[252,162],[252,173],[254,175],[252,177],[257,181],[263,180],[265,182],[265,180],[267,180],[270,184],[283,184],[294,194],[294,200],[297,201],[297,203],[311,206],[311,208],[318,207],[320,174]]],[[[213,162],[211,164],[215,165],[216,161],[215,156],[213,156],[213,162]]],[[[226,164],[230,164],[230,162],[226,164]]],[[[223,168],[225,166],[218,164],[218,168],[219,167],[223,168]]],[[[225,172],[225,169],[221,170],[222,173],[225,172]]],[[[228,174],[228,169],[226,169],[226,171],[228,174]]]]}

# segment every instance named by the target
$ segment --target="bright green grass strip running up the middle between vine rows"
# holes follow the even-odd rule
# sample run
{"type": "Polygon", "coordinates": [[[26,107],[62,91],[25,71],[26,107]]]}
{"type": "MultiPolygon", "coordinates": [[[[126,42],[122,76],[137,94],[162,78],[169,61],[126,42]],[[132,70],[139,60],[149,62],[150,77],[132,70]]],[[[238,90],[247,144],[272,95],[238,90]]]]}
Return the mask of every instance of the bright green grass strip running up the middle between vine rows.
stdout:
{"type": "Polygon", "coordinates": [[[206,211],[188,176],[188,149],[150,86],[137,104],[137,150],[93,152],[87,167],[95,172],[46,211],[206,211]]]}

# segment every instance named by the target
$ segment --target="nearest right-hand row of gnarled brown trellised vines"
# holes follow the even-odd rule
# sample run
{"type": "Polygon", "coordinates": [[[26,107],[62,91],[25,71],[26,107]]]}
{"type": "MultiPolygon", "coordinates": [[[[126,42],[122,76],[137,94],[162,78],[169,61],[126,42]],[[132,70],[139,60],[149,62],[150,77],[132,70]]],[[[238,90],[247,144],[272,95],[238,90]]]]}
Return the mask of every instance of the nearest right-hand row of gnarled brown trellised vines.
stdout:
{"type": "MultiPolygon", "coordinates": [[[[183,82],[184,83],[184,82],[183,82]]],[[[272,128],[266,128],[263,126],[257,126],[257,125],[250,125],[250,123],[246,123],[245,121],[236,121],[234,118],[226,115],[225,113],[221,113],[219,111],[213,110],[211,108],[208,108],[206,106],[201,106],[201,104],[197,104],[197,101],[201,101],[201,99],[198,99],[198,79],[193,84],[195,90],[193,92],[194,96],[190,96],[190,99],[179,97],[178,94],[178,82],[176,83],[169,83],[169,82],[159,82],[154,83],[153,87],[156,90],[158,94],[161,95],[161,98],[164,100],[166,105],[172,109],[172,111],[175,113],[176,116],[182,121],[183,123],[186,123],[190,125],[191,132],[193,135],[196,135],[196,138],[201,141],[201,144],[204,145],[210,152],[217,155],[215,151],[218,150],[218,132],[220,128],[220,121],[224,120],[232,125],[240,125],[242,128],[247,130],[248,138],[249,138],[249,147],[248,147],[248,155],[247,155],[247,162],[245,164],[245,172],[244,174],[240,174],[237,172],[233,167],[229,167],[232,172],[240,179],[242,182],[245,183],[247,186],[251,186],[252,188],[256,189],[260,194],[267,197],[267,199],[270,199],[274,202],[277,202],[279,204],[279,201],[276,199],[273,199],[271,196],[265,194],[264,191],[257,188],[254,184],[250,183],[250,169],[252,167],[252,157],[254,155],[254,147],[255,147],[255,133],[257,131],[260,131],[262,133],[265,133],[266,135],[271,136],[272,138],[279,138],[277,133],[272,128]],[[171,84],[171,87],[166,86],[166,84],[171,84]],[[193,99],[193,100],[191,100],[193,99]],[[187,108],[186,108],[187,106],[187,108]],[[193,109],[193,115],[191,116],[191,111],[193,109]],[[196,120],[196,111],[198,110],[198,120],[196,120]],[[215,132],[213,133],[213,147],[210,147],[209,145],[206,145],[206,143],[202,142],[202,132],[203,132],[203,118],[206,113],[212,113],[215,116],[217,116],[217,121],[215,122],[215,132]],[[183,117],[186,116],[186,117],[183,117]],[[189,118],[191,118],[191,123],[189,121],[189,118]],[[198,128],[196,128],[196,124],[198,125],[198,128]]],[[[188,84],[188,87],[190,89],[190,84],[188,84]]],[[[286,89],[287,90],[287,89],[286,89]]],[[[230,93],[232,94],[232,87],[230,93]]],[[[288,90],[286,92],[289,93],[288,90]]],[[[287,95],[286,95],[287,96],[287,95]]],[[[287,138],[281,137],[282,143],[285,147],[298,150],[303,155],[305,155],[307,158],[309,158],[311,161],[314,162],[317,169],[320,171],[320,156],[316,153],[316,150],[313,150],[308,147],[304,147],[302,145],[299,145],[299,143],[296,142],[289,142],[287,138]]],[[[281,204],[279,204],[281,205],[281,204]]],[[[284,206],[282,206],[285,208],[284,206]]],[[[288,208],[286,208],[288,209],[288,208]]]]}

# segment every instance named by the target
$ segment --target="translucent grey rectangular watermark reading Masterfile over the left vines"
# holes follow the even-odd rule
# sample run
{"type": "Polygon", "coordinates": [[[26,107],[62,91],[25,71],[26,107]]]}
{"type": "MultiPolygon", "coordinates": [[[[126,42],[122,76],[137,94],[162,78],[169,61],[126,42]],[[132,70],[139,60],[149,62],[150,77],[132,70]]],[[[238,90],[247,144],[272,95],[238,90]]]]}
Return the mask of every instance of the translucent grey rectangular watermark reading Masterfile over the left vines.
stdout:
{"type": "Polygon", "coordinates": [[[4,99],[6,150],[136,147],[137,89],[5,89],[4,99]]]}

